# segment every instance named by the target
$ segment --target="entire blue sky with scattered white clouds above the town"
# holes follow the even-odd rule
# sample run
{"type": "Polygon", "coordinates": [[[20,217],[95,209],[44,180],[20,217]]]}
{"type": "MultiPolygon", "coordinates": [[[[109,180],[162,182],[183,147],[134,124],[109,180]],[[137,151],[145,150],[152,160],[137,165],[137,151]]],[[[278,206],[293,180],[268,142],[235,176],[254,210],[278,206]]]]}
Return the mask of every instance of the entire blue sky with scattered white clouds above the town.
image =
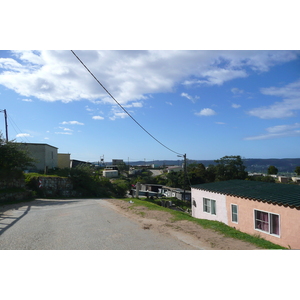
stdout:
{"type": "MultiPolygon", "coordinates": [[[[299,51],[75,52],[174,152],[189,159],[299,157],[299,51]]],[[[47,143],[73,159],[178,159],[68,50],[0,51],[0,109],[8,113],[9,139],[47,143]]]]}

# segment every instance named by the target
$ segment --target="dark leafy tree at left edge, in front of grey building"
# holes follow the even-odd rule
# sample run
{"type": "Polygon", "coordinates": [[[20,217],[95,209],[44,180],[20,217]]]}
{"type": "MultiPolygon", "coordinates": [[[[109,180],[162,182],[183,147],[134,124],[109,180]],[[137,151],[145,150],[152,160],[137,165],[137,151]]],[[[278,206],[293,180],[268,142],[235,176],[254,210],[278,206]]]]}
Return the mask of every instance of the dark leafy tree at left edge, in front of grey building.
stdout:
{"type": "Polygon", "coordinates": [[[33,166],[35,160],[22,145],[6,142],[0,132],[0,170],[2,177],[20,177],[22,170],[33,166]]]}

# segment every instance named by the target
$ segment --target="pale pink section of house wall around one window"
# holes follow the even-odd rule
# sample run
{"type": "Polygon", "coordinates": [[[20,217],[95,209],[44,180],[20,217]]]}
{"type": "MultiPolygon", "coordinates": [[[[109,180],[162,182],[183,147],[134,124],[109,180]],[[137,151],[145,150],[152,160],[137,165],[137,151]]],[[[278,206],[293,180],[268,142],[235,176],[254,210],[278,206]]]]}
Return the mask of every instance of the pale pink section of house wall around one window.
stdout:
{"type": "Polygon", "coordinates": [[[222,194],[206,192],[198,189],[191,189],[192,195],[192,216],[198,219],[207,219],[213,221],[220,221],[228,224],[226,196],[222,194]],[[216,215],[203,211],[203,198],[216,200],[216,215]],[[196,203],[196,207],[193,204],[196,203]]]}

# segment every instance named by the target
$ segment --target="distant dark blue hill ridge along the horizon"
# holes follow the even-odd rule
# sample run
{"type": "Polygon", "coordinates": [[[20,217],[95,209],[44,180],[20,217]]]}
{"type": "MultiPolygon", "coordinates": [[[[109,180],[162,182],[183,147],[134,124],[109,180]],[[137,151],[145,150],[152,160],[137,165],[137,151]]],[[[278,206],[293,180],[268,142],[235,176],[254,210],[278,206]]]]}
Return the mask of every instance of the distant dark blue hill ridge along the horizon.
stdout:
{"type": "MultiPolygon", "coordinates": [[[[247,172],[267,173],[269,166],[275,166],[279,172],[293,173],[297,166],[300,166],[300,158],[245,158],[243,159],[247,172]]],[[[145,161],[129,162],[130,165],[145,165],[145,161]]],[[[202,163],[204,166],[215,165],[214,160],[188,160],[188,163],[202,163]]],[[[182,160],[155,160],[146,162],[146,164],[163,165],[178,165],[182,164],[182,160]]]]}

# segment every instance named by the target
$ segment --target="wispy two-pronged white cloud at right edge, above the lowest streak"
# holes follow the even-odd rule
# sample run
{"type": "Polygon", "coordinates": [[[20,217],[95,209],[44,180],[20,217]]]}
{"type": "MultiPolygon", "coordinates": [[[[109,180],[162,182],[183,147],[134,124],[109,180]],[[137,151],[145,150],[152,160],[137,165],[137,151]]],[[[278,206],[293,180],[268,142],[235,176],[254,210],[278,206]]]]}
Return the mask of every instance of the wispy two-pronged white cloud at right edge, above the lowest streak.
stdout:
{"type": "Polygon", "coordinates": [[[248,113],[261,119],[288,118],[296,115],[300,110],[300,80],[284,87],[270,87],[261,89],[261,93],[284,98],[270,106],[257,107],[248,113]]]}

